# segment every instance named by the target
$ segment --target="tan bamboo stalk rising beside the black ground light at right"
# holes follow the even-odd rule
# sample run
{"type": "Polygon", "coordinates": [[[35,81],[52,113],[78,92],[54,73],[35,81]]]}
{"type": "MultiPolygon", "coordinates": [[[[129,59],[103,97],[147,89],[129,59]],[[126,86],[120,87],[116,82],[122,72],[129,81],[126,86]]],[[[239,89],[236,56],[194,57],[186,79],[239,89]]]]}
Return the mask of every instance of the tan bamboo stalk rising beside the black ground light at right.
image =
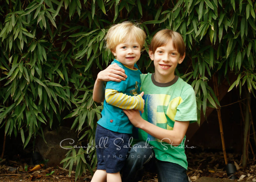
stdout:
{"type": "MultiPolygon", "coordinates": [[[[219,92],[218,92],[218,83],[216,80],[216,76],[213,75],[213,82],[214,82],[214,93],[218,98],[219,101],[219,92]]],[[[217,105],[217,104],[216,104],[217,105]]],[[[220,107],[217,107],[217,114],[218,114],[218,121],[220,126],[220,137],[221,137],[221,143],[222,143],[222,151],[224,155],[225,164],[228,164],[227,154],[226,154],[226,148],[225,148],[225,141],[224,141],[224,133],[223,133],[223,127],[222,127],[222,120],[221,120],[221,114],[220,114],[220,107]]]]}

